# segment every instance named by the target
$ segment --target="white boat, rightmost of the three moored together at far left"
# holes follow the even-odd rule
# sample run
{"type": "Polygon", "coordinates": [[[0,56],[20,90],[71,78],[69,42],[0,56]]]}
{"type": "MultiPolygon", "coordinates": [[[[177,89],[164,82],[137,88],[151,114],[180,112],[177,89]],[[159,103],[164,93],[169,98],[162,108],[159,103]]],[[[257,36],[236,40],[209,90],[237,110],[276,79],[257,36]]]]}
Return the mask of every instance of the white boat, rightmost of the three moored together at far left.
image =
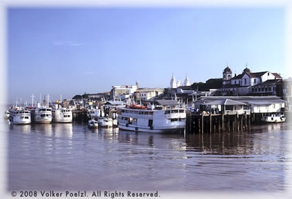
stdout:
{"type": "Polygon", "coordinates": [[[53,122],[55,123],[71,123],[72,122],[72,111],[56,104],[52,109],[53,122]]]}

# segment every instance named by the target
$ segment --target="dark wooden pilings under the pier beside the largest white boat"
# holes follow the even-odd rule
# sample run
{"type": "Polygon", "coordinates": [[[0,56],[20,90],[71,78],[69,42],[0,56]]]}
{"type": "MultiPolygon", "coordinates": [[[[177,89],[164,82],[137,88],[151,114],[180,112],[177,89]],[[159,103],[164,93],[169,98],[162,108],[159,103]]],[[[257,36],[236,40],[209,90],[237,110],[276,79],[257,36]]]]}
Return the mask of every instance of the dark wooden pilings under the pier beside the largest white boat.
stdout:
{"type": "Polygon", "coordinates": [[[239,132],[251,127],[249,114],[187,114],[187,133],[239,132]]]}

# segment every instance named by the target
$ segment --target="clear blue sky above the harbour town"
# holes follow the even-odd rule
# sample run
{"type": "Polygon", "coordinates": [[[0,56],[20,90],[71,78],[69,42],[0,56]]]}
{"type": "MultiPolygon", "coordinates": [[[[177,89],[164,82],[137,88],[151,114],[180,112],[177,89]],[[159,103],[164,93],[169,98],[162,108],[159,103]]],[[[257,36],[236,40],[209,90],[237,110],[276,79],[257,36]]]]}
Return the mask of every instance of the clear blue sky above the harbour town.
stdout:
{"type": "MultiPolygon", "coordinates": [[[[112,85],[169,87],[269,70],[284,76],[281,8],[9,8],[8,99],[112,85]]],[[[287,76],[284,76],[287,78],[287,76]]]]}

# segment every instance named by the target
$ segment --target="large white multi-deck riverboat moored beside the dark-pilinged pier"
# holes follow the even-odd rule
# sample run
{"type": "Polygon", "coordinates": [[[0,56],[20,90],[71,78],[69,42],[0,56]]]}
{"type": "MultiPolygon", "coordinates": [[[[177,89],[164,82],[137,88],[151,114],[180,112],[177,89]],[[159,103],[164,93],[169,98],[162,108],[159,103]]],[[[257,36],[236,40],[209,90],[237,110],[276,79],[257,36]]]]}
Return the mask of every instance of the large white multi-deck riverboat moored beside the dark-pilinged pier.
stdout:
{"type": "Polygon", "coordinates": [[[117,114],[118,127],[135,132],[176,132],[186,127],[186,109],[179,106],[130,105],[119,107],[117,114]]]}

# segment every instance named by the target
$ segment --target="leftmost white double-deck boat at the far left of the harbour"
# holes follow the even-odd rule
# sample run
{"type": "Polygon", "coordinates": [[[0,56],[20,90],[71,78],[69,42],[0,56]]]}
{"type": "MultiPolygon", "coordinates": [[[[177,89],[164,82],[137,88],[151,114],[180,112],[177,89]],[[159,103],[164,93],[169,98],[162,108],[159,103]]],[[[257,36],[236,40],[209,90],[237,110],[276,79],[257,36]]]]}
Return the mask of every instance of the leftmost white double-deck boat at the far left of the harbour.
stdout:
{"type": "Polygon", "coordinates": [[[31,116],[30,116],[29,110],[23,107],[12,106],[9,112],[10,112],[10,115],[9,115],[10,123],[13,123],[15,125],[31,123],[31,116]]]}

